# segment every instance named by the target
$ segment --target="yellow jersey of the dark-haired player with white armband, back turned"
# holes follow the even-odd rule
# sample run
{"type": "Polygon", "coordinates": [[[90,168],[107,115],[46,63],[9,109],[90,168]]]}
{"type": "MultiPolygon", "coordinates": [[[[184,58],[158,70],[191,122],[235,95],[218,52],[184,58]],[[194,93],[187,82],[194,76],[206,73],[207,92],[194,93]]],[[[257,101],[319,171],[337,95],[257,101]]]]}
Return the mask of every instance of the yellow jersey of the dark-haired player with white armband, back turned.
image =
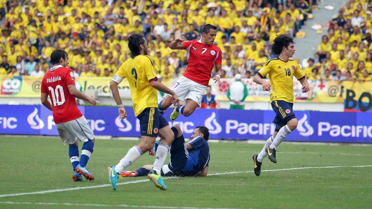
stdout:
{"type": "Polygon", "coordinates": [[[126,78],[131,89],[134,115],[138,116],[147,107],[158,107],[158,93],[150,82],[157,80],[154,61],[147,55],[129,58],[112,78],[120,83],[126,78]]]}

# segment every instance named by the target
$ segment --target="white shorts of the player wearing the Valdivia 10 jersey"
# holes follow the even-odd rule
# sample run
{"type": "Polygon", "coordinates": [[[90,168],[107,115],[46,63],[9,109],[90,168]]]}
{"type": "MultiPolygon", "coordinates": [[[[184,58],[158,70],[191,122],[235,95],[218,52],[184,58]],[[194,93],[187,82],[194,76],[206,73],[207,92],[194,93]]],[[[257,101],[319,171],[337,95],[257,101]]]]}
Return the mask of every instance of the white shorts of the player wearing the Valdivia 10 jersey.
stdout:
{"type": "Polygon", "coordinates": [[[83,142],[94,139],[92,128],[90,128],[84,116],[63,123],[57,123],[56,126],[64,145],[74,144],[77,139],[83,142]]]}

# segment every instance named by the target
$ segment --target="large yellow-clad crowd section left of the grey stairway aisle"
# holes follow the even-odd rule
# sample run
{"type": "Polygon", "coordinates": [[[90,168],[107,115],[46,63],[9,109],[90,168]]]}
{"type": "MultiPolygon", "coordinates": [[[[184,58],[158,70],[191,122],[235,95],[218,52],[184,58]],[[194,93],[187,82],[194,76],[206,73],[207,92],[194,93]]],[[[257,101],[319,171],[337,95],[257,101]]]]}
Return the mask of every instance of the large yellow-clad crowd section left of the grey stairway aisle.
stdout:
{"type": "Polygon", "coordinates": [[[128,36],[142,33],[158,74],[178,77],[187,65],[186,51],[171,50],[170,41],[199,39],[210,23],[219,28],[221,77],[249,78],[273,58],[276,34],[298,32],[311,13],[309,1],[1,0],[0,75],[42,76],[51,66],[51,51],[64,49],[76,77],[112,77],[129,58],[128,36]]]}

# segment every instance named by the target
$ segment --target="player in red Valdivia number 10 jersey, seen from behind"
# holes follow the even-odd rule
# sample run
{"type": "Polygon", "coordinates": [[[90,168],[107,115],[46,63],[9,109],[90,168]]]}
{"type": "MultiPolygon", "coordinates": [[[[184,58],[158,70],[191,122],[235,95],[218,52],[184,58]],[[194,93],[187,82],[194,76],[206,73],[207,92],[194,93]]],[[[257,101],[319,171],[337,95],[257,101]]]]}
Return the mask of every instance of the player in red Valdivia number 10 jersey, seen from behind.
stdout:
{"type": "Polygon", "coordinates": [[[75,97],[94,106],[97,101],[76,89],[74,73],[67,68],[68,55],[65,51],[53,50],[50,60],[53,67],[41,81],[41,103],[53,112],[54,122],[62,142],[64,145],[69,145],[68,155],[74,170],[72,176],[74,181],[82,181],[81,175],[87,180],[94,180],[93,175],[86,168],[93,152],[94,134],[87,119],[77,108],[75,97]],[[48,101],[48,95],[52,103],[48,101]],[[80,161],[77,139],[84,142],[80,161]]]}

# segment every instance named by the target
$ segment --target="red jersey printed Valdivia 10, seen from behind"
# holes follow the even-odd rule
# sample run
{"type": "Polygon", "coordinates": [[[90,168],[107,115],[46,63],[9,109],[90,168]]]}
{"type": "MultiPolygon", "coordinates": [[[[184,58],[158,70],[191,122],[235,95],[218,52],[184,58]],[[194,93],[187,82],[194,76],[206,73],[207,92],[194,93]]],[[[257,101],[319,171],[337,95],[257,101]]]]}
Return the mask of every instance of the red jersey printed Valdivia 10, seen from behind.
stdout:
{"type": "Polygon", "coordinates": [[[56,124],[83,116],[77,108],[75,97],[68,91],[68,85],[75,85],[74,73],[62,65],[50,68],[41,81],[41,93],[49,94],[56,124]]]}

